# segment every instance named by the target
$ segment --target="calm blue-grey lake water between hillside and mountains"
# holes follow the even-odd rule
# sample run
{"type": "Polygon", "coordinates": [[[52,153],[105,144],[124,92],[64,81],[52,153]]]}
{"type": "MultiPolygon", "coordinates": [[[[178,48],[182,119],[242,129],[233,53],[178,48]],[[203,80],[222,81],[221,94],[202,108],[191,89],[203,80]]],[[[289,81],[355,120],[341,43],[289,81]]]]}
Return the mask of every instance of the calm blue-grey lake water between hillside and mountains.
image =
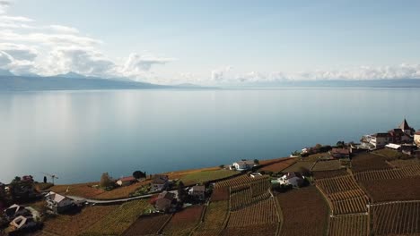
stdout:
{"type": "Polygon", "coordinates": [[[0,93],[0,181],[99,181],[289,156],[420,129],[419,89],[105,90],[0,93]]]}

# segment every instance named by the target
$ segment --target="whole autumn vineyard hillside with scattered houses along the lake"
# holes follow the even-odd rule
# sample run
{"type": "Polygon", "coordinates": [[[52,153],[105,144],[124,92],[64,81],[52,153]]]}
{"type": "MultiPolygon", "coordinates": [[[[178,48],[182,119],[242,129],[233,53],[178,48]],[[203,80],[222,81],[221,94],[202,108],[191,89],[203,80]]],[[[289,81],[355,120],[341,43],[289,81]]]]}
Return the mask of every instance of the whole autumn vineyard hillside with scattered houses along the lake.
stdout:
{"type": "MultiPolygon", "coordinates": [[[[47,176],[38,182],[25,175],[8,184],[0,183],[0,232],[9,235],[372,235],[386,232],[381,228],[385,227],[381,225],[383,222],[375,222],[378,221],[375,209],[382,202],[379,198],[387,203],[413,202],[418,213],[418,184],[407,189],[399,180],[412,182],[420,176],[419,147],[420,131],[404,119],[387,132],[363,135],[360,143],[317,144],[272,160],[243,159],[212,168],[150,175],[135,171],[118,179],[103,173],[101,180],[92,184],[54,185],[54,177],[51,182],[47,176]],[[398,185],[406,188],[405,196],[395,193],[397,190],[389,191],[389,198],[381,196],[376,188],[383,186],[383,180],[398,180],[398,185]],[[347,186],[350,187],[346,189],[347,186]],[[314,199],[316,203],[308,201],[308,209],[320,214],[315,217],[328,216],[318,223],[318,218],[307,219],[313,222],[297,229],[293,226],[295,220],[288,216],[289,212],[296,216],[293,207],[297,206],[287,196],[306,201],[309,197],[304,194],[318,196],[318,200],[314,199]],[[89,214],[95,217],[86,216],[89,214]],[[74,223],[78,217],[89,218],[88,223],[63,225],[74,223]],[[346,227],[352,223],[349,221],[354,221],[353,217],[360,221],[357,224],[360,229],[346,227]],[[72,230],[63,232],[63,227],[72,230]],[[317,231],[314,234],[302,233],[313,229],[317,231]]],[[[420,220],[418,214],[416,218],[408,215],[408,221],[409,217],[415,223],[420,220]]],[[[400,232],[392,229],[387,233],[406,233],[402,228],[400,232]]],[[[407,231],[420,233],[416,227],[407,231]]]]}

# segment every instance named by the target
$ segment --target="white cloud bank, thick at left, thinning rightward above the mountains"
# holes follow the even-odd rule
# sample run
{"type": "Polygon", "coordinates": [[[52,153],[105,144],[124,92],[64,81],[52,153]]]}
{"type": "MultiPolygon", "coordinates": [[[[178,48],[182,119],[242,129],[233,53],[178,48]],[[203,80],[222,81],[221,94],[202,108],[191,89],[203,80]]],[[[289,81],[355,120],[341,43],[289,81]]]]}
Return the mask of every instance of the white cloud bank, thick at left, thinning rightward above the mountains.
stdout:
{"type": "MultiPolygon", "coordinates": [[[[420,64],[360,66],[343,70],[308,72],[235,72],[232,65],[198,74],[182,72],[159,76],[175,58],[132,52],[122,60],[101,51],[99,38],[89,37],[66,25],[40,25],[25,16],[9,15],[12,2],[0,0],[0,69],[17,75],[51,76],[76,72],[102,78],[125,77],[161,84],[242,84],[275,83],[287,80],[389,80],[420,79],[420,64]]],[[[234,62],[232,62],[234,64],[234,62]]]]}

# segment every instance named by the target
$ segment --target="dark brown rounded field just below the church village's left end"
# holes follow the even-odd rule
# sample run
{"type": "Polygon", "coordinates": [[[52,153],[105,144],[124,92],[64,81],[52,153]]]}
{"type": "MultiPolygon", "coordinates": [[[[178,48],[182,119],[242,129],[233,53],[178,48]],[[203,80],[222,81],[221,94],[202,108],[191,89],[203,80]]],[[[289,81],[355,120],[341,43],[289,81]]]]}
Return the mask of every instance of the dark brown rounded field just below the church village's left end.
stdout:
{"type": "Polygon", "coordinates": [[[352,158],[353,172],[363,172],[371,170],[391,169],[384,156],[372,153],[363,153],[352,158]]]}

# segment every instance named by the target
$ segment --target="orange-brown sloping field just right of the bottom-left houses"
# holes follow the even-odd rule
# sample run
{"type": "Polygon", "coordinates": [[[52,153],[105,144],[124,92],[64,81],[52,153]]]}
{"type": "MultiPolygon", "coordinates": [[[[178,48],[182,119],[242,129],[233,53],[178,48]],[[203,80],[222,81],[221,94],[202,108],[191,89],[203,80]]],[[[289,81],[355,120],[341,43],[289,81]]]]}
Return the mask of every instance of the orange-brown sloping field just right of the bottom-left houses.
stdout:
{"type": "Polygon", "coordinates": [[[43,232],[63,236],[83,233],[93,223],[109,215],[118,206],[87,206],[77,215],[57,215],[44,222],[43,232]]]}

